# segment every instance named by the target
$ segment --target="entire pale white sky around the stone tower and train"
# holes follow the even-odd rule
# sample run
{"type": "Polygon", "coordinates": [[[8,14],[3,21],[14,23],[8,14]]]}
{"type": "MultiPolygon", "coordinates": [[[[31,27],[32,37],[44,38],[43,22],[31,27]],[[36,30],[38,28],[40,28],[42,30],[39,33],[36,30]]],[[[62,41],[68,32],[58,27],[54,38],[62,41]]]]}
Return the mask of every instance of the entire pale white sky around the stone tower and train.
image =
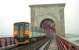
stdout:
{"type": "Polygon", "coordinates": [[[0,0],[0,35],[11,35],[15,22],[31,22],[29,5],[54,3],[66,3],[65,32],[79,33],[79,0],[0,0]]]}

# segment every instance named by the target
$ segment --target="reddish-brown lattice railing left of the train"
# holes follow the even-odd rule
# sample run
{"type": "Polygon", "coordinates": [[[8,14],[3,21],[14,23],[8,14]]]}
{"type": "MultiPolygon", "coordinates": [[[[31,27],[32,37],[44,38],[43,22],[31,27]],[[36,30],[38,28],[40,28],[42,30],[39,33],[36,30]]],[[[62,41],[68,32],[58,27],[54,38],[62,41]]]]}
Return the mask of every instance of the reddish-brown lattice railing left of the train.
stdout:
{"type": "Polygon", "coordinates": [[[10,48],[12,46],[16,46],[15,45],[15,40],[13,37],[2,37],[0,38],[0,50],[2,50],[3,48],[10,48]]]}

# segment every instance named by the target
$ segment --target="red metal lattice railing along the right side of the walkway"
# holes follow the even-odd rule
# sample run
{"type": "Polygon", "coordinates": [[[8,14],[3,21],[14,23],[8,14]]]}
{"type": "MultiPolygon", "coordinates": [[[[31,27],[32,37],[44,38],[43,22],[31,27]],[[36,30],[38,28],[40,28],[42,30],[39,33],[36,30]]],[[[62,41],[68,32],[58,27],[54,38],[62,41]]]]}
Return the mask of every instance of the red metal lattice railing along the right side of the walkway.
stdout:
{"type": "Polygon", "coordinates": [[[56,42],[58,50],[79,50],[79,46],[71,41],[67,40],[65,37],[62,37],[56,34],[56,42]]]}

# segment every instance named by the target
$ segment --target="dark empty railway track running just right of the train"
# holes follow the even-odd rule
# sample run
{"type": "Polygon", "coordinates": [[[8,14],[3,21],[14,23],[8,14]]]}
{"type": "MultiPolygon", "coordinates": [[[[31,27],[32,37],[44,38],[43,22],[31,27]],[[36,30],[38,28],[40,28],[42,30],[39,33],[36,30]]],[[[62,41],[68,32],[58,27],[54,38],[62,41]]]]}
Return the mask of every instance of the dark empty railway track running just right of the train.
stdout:
{"type": "Polygon", "coordinates": [[[8,50],[39,50],[39,48],[48,41],[47,38],[37,41],[27,46],[19,46],[8,50]]]}

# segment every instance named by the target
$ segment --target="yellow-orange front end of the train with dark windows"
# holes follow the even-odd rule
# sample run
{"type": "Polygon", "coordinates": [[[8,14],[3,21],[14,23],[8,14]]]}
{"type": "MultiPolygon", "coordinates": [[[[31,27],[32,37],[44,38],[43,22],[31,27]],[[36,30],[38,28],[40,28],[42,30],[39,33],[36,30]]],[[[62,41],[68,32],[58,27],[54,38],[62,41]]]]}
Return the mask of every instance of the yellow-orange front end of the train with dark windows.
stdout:
{"type": "Polygon", "coordinates": [[[16,45],[29,44],[31,36],[31,27],[27,22],[14,23],[14,39],[16,45]]]}

